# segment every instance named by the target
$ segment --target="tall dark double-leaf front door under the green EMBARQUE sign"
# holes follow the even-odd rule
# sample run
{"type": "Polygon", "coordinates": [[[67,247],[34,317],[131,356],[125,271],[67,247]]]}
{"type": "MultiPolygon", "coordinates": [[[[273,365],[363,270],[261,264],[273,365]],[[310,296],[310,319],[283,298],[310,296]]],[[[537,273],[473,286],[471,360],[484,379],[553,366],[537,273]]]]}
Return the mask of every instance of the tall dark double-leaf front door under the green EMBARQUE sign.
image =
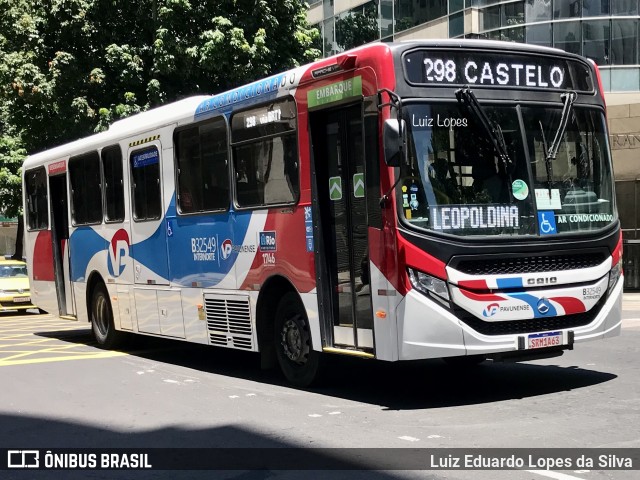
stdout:
{"type": "Polygon", "coordinates": [[[373,351],[363,105],[317,111],[309,117],[325,333],[332,332],[332,346],[373,351]]]}

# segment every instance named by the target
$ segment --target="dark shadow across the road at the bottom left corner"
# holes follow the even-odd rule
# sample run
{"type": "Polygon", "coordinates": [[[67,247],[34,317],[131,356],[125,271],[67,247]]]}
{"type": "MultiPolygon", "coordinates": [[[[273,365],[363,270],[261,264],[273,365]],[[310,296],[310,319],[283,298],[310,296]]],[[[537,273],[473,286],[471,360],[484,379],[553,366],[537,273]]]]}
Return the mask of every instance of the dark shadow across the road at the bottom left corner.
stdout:
{"type": "MultiPolygon", "coordinates": [[[[104,419],[98,419],[102,422],[104,419]]],[[[109,428],[49,418],[0,414],[3,435],[0,448],[39,450],[39,465],[45,466],[45,455],[66,453],[147,453],[154,470],[118,471],[73,469],[0,470],[9,479],[211,479],[229,478],[257,480],[266,478],[373,479],[400,478],[393,472],[374,469],[402,470],[405,466],[426,464],[419,449],[306,449],[300,445],[275,440],[236,426],[206,429],[160,428],[121,432],[109,428]],[[9,441],[10,440],[10,441],[9,441]],[[85,450],[87,449],[87,450],[85,450]],[[149,450],[150,449],[150,450],[149,450]],[[160,450],[154,450],[160,449],[160,450]],[[400,452],[401,456],[398,457],[400,452]],[[387,468],[390,467],[390,468],[387,468]],[[192,469],[192,470],[190,470],[192,469]],[[185,471],[188,470],[188,471],[185,471]],[[326,471],[322,471],[326,470],[326,471]]],[[[20,457],[16,457],[20,459],[20,457]]],[[[30,454],[30,464],[35,455],[30,454]]],[[[50,457],[55,458],[55,457],[50,457]]],[[[86,457],[85,457],[86,458],[86,457]]],[[[58,456],[63,461],[62,456],[58,456]]],[[[15,462],[14,460],[14,463],[15,462]]],[[[7,459],[0,459],[7,465],[7,459]]],[[[64,464],[62,464],[64,465],[64,464]]],[[[425,473],[421,478],[438,477],[425,473]]]]}

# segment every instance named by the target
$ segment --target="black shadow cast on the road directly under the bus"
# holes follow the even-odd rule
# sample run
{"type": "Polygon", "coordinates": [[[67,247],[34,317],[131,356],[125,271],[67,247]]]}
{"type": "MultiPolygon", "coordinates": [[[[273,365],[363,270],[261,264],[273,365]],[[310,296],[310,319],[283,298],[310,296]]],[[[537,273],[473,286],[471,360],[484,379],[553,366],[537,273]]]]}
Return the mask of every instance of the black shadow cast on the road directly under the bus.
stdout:
{"type": "MultiPolygon", "coordinates": [[[[36,335],[63,342],[95,344],[89,330],[38,332],[36,335]]],[[[132,336],[123,351],[154,362],[287,386],[277,370],[259,369],[256,353],[144,336],[132,336]]],[[[325,360],[325,378],[320,386],[311,390],[389,410],[435,409],[534,397],[585,388],[616,378],[611,373],[585,368],[532,363],[485,362],[461,370],[451,368],[441,360],[390,363],[335,355],[327,356],[325,360]]]]}

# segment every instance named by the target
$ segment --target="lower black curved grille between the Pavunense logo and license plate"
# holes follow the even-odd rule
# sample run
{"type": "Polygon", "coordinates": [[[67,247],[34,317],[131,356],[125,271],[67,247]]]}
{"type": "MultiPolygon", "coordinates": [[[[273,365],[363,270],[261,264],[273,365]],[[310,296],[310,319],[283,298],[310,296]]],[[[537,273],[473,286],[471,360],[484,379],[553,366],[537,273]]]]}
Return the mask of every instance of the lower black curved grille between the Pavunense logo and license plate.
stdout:
{"type": "Polygon", "coordinates": [[[455,314],[462,322],[483,335],[516,335],[522,333],[549,332],[588,325],[596,318],[598,313],[600,313],[605,301],[606,297],[602,297],[588,312],[562,315],[559,317],[526,318],[504,322],[485,322],[459,307],[456,307],[455,314]]]}

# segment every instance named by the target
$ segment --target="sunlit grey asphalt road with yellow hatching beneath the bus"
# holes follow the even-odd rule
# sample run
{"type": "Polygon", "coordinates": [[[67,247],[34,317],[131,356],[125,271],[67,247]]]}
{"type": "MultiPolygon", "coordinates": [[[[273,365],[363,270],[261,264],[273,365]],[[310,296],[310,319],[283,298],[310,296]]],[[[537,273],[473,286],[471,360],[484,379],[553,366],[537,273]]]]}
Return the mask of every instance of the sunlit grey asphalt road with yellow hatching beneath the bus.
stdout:
{"type": "MultiPolygon", "coordinates": [[[[332,357],[326,384],[306,391],[286,385],[277,371],[261,371],[255,354],[150,338],[110,352],[94,345],[84,324],[52,315],[5,315],[0,448],[640,448],[640,295],[625,295],[624,316],[620,337],[578,345],[555,359],[487,363],[471,372],[438,360],[388,364],[332,357]]],[[[347,460],[357,465],[362,459],[347,460]]],[[[2,480],[639,476],[596,468],[0,471],[2,480]]]]}

